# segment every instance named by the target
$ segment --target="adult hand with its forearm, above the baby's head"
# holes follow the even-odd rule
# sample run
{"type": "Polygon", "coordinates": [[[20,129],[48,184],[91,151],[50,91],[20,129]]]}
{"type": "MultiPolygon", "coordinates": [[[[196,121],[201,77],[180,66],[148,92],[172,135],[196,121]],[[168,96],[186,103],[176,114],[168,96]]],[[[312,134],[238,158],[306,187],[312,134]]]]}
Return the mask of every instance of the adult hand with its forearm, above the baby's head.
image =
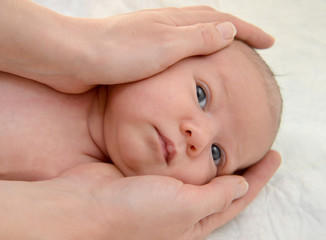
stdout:
{"type": "Polygon", "coordinates": [[[137,81],[182,58],[213,53],[230,44],[232,25],[218,25],[225,21],[236,26],[237,38],[253,47],[273,44],[273,38],[259,28],[209,7],[94,19],[63,16],[27,0],[2,0],[0,71],[67,93],[137,81]]]}

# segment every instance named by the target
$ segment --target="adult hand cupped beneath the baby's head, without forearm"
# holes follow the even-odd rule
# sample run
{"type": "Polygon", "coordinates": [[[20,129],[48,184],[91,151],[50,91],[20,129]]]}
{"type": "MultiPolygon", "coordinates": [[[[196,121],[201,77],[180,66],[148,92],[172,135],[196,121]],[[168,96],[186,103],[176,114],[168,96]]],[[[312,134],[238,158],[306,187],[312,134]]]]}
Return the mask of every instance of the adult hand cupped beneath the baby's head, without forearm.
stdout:
{"type": "MultiPolygon", "coordinates": [[[[258,194],[280,165],[270,151],[250,167],[244,177],[249,192],[239,200],[235,193],[240,176],[222,176],[204,186],[184,184],[162,176],[123,177],[112,165],[80,165],[63,173],[77,200],[84,201],[83,216],[96,218],[103,239],[204,239],[239,214],[258,194]]],[[[56,181],[54,179],[54,181],[56,181]]]]}

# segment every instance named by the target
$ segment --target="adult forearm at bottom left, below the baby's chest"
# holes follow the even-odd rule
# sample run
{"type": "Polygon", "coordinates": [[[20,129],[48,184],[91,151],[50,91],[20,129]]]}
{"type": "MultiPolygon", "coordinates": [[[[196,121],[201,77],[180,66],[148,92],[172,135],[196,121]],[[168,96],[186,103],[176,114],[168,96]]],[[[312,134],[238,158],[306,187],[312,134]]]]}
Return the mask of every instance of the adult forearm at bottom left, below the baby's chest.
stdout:
{"type": "Polygon", "coordinates": [[[83,200],[56,182],[0,181],[0,239],[101,239],[83,200]]]}

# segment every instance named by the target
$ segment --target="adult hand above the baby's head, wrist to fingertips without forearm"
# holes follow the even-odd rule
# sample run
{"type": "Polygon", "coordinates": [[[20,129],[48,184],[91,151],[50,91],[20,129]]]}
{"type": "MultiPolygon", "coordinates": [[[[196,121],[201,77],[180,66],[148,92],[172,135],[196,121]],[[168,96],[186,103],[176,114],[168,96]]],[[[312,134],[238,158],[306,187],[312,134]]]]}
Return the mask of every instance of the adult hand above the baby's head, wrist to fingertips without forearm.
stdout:
{"type": "Polygon", "coordinates": [[[86,59],[91,61],[76,71],[76,78],[89,85],[147,78],[183,58],[218,51],[235,34],[256,48],[274,41],[261,29],[206,6],[143,10],[84,22],[80,28],[93,29],[80,37],[88,39],[91,57],[86,59]]]}

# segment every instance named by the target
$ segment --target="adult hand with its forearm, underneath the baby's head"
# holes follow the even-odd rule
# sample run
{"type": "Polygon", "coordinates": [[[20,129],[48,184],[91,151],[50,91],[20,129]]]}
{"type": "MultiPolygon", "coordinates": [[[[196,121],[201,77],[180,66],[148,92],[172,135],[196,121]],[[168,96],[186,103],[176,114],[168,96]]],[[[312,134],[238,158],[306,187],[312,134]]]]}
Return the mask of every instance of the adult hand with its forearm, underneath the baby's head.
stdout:
{"type": "Polygon", "coordinates": [[[204,239],[241,212],[279,165],[279,154],[270,151],[246,170],[243,177],[250,188],[242,198],[246,184],[240,176],[217,177],[204,186],[193,186],[170,177],[122,177],[109,164],[79,165],[55,179],[20,183],[25,184],[21,189],[10,186],[5,195],[2,187],[0,197],[9,199],[9,207],[1,201],[6,218],[0,224],[0,237],[204,239]]]}

